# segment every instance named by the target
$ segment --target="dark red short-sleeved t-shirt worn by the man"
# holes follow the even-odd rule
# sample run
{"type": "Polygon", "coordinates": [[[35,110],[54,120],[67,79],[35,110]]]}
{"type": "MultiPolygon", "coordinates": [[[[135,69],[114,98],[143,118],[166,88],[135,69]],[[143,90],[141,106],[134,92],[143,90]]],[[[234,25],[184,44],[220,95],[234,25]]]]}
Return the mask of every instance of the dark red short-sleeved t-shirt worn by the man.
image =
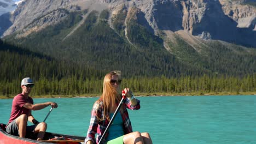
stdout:
{"type": "Polygon", "coordinates": [[[34,104],[34,101],[31,97],[28,97],[26,99],[24,95],[22,95],[22,93],[16,95],[13,98],[13,105],[11,106],[11,115],[8,124],[22,114],[26,114],[27,116],[28,114],[30,114],[31,110],[28,110],[25,107],[23,107],[26,103],[34,104]]]}

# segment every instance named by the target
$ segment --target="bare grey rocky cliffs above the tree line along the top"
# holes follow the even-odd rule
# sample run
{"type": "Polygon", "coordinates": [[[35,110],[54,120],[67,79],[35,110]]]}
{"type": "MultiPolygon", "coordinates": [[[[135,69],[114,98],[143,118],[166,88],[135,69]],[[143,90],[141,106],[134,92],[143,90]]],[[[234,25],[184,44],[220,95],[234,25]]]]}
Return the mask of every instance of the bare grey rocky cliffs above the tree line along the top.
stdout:
{"type": "MultiPolygon", "coordinates": [[[[24,36],[39,31],[62,20],[67,11],[108,9],[109,25],[120,9],[136,7],[140,11],[139,22],[158,35],[165,32],[173,40],[173,34],[184,31],[201,39],[223,40],[256,47],[255,1],[211,0],[26,0],[21,3],[10,21],[13,23],[2,35],[22,31],[24,36]],[[144,20],[143,20],[144,19],[144,20]],[[40,22],[36,22],[40,21],[40,22]],[[170,34],[171,33],[171,34],[170,34]]],[[[184,33],[182,32],[182,33],[184,33]]],[[[184,34],[185,34],[184,33],[184,34]]],[[[185,37],[183,34],[181,37],[185,37]]]]}

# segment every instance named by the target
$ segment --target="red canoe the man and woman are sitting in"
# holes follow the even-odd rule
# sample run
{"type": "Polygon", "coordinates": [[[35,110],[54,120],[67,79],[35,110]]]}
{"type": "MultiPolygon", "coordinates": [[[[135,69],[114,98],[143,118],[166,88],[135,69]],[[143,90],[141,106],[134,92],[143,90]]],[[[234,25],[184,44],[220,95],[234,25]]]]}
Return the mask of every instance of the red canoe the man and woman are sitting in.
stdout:
{"type": "Polygon", "coordinates": [[[73,136],[73,135],[64,135],[64,134],[56,134],[56,133],[49,133],[45,132],[44,140],[37,141],[33,139],[27,139],[27,138],[21,138],[18,136],[10,135],[7,132],[5,132],[5,125],[3,123],[0,123],[0,144],[34,144],[34,143],[72,143],[72,144],[78,144],[78,143],[84,143],[85,137],[83,136],[73,136]]]}

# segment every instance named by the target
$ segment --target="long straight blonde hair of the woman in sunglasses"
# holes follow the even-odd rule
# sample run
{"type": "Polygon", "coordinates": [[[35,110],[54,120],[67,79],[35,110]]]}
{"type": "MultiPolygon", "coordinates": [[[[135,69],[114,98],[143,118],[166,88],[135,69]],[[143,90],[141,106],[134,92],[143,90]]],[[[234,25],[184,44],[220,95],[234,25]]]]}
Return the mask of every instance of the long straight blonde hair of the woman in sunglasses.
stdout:
{"type": "MultiPolygon", "coordinates": [[[[103,92],[99,99],[99,101],[103,102],[102,108],[104,110],[104,113],[103,113],[102,118],[100,118],[100,117],[98,117],[98,115],[96,115],[100,121],[102,121],[104,118],[106,118],[108,121],[110,121],[109,114],[110,114],[112,105],[115,105],[121,101],[121,96],[118,92],[119,89],[115,89],[110,83],[110,80],[113,75],[117,75],[118,80],[120,80],[121,79],[121,71],[111,71],[110,73],[106,74],[104,77],[103,92]]],[[[120,85],[120,83],[119,83],[119,85],[120,85]]]]}

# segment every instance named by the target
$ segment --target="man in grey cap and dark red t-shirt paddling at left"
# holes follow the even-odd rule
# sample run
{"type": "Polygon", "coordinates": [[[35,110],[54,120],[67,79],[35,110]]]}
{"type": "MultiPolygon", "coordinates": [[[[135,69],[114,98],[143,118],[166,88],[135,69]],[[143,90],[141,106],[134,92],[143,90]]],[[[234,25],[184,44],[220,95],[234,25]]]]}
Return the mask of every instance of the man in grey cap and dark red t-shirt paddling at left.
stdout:
{"type": "Polygon", "coordinates": [[[10,119],[6,127],[7,133],[20,137],[32,137],[37,134],[37,140],[43,140],[47,128],[44,122],[38,122],[33,116],[31,110],[41,110],[51,105],[57,108],[54,102],[46,102],[34,104],[33,99],[28,96],[32,87],[33,81],[30,77],[26,77],[21,81],[22,93],[13,98],[13,105],[11,106],[10,119]],[[32,122],[34,125],[27,125],[27,121],[32,122]]]}

